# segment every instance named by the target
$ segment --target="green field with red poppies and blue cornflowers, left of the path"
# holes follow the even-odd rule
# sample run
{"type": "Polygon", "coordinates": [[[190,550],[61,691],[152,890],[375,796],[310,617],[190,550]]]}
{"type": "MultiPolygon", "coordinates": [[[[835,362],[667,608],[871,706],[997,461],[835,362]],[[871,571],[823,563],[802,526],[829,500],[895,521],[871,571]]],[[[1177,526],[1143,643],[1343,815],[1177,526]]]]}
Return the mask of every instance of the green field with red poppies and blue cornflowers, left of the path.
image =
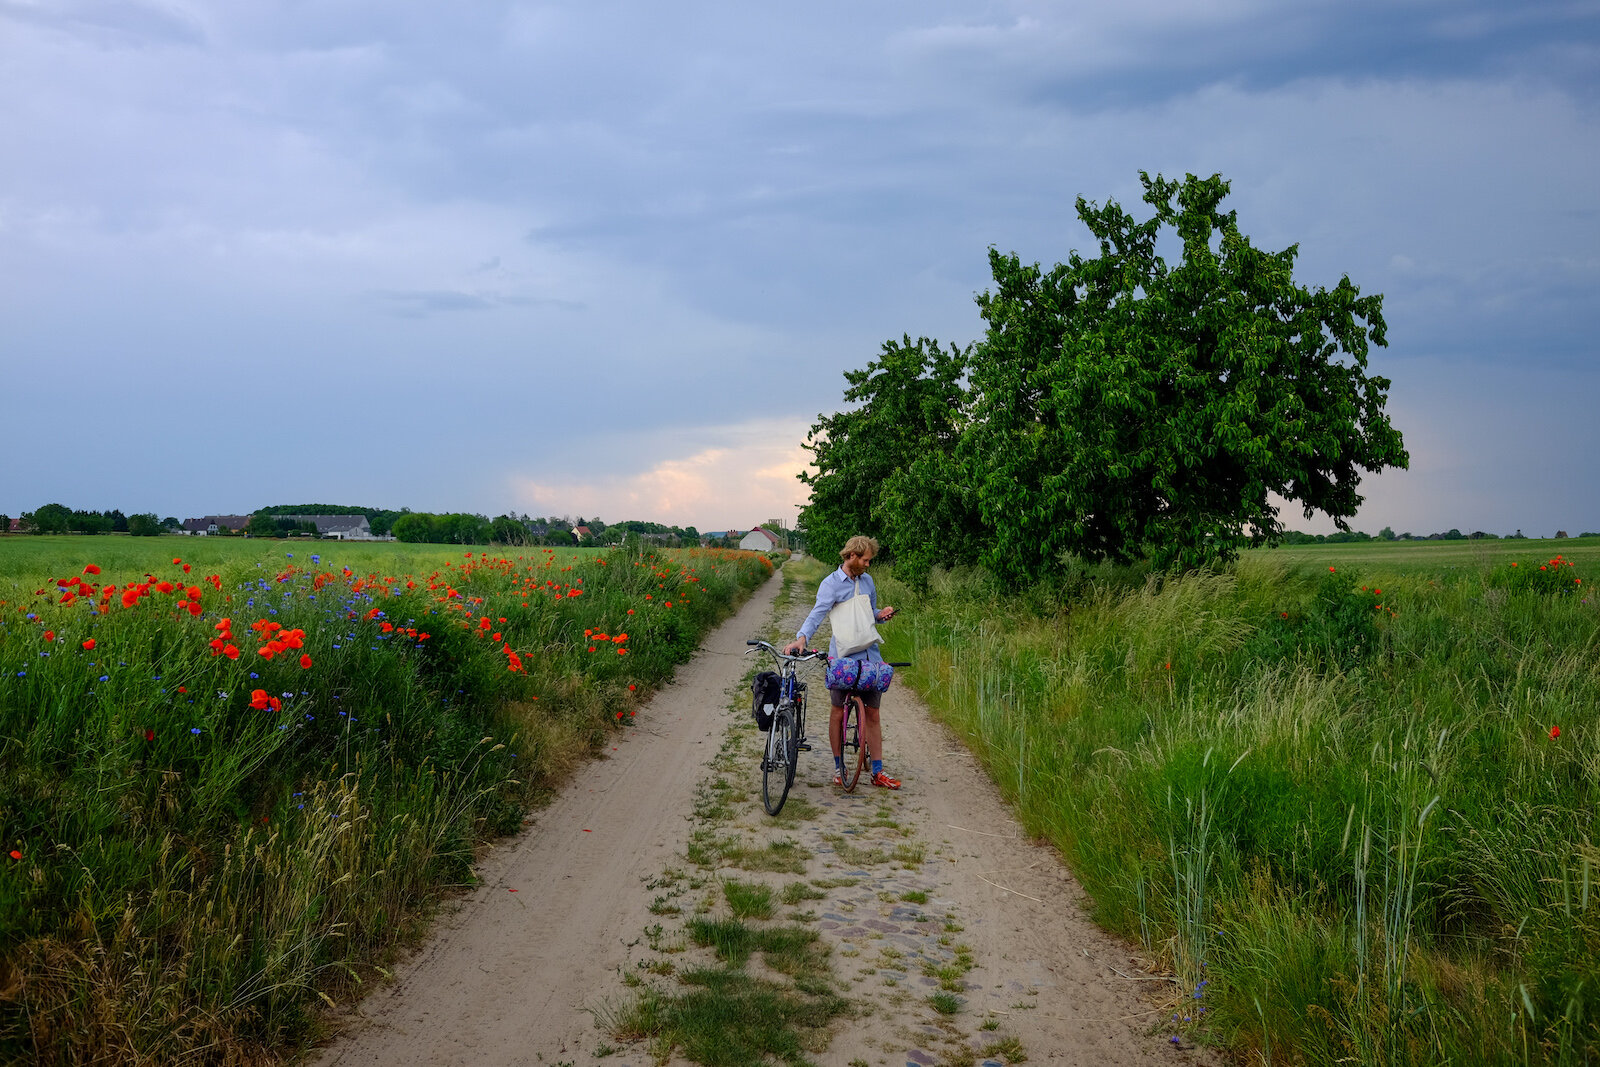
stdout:
{"type": "Polygon", "coordinates": [[[310,1040],[773,566],[6,541],[0,1062],[40,1064],[310,1040]]]}

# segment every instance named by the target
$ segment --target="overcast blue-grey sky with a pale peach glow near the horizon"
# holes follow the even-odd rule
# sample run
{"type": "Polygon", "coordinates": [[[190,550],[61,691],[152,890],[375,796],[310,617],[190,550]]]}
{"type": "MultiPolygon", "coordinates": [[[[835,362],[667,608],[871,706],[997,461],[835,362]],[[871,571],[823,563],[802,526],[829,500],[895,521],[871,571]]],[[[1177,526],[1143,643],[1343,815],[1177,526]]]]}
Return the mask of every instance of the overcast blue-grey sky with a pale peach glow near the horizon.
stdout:
{"type": "Polygon", "coordinates": [[[792,518],[1147,170],[1384,294],[1358,528],[1600,530],[1597,90],[1589,0],[0,0],[0,512],[792,518]]]}

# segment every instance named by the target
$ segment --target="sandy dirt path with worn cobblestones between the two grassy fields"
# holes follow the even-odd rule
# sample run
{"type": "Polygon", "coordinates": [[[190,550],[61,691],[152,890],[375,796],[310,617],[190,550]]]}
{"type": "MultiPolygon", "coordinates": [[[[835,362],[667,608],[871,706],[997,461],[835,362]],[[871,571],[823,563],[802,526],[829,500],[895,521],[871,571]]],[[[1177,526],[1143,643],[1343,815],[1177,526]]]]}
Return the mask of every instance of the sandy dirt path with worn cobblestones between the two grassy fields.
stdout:
{"type": "MultiPolygon", "coordinates": [[[[768,819],[757,734],[730,705],[752,665],[744,641],[773,632],[779,587],[774,577],[758,590],[611,758],[480,864],[482,886],[352,1013],[318,1067],[650,1064],[643,1045],[613,1048],[592,1013],[626,1003],[640,974],[685,961],[682,936],[666,929],[682,915],[662,918],[656,889],[675,885],[685,904],[698,894],[696,910],[709,913],[718,878],[794,885],[794,872],[752,875],[717,857],[773,841],[798,845],[816,899],[790,918],[819,931],[856,1008],[826,1049],[818,1041],[816,1062],[976,1064],[1019,1053],[1046,1064],[1211,1062],[1152,1032],[1166,1009],[1150,993],[1168,987],[1139,981],[1126,945],[1083,917],[1054,853],[1022,840],[974,760],[912,693],[896,689],[885,710],[901,792],[832,787],[821,707],[790,808],[768,819]],[[712,779],[731,803],[707,811],[712,779]],[[698,877],[685,873],[691,835],[717,841],[698,877]],[[954,1014],[930,1006],[941,985],[960,990],[954,1014]]],[[[800,597],[778,632],[794,632],[810,606],[806,590],[800,597]]]]}

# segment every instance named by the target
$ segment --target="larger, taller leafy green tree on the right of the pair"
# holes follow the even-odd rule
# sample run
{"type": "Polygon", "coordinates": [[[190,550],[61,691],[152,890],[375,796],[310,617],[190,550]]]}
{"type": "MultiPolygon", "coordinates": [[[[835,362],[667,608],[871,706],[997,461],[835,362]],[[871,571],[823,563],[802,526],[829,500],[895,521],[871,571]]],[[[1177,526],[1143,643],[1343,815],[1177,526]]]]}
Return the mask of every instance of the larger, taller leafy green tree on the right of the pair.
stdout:
{"type": "Polygon", "coordinates": [[[1298,246],[1254,248],[1221,176],[1141,181],[1142,222],[1077,202],[1098,256],[990,251],[962,454],[1000,576],[1229,557],[1282,536],[1274,494],[1349,528],[1360,470],[1408,462],[1366,374],[1382,298],[1299,285],[1298,246]]]}

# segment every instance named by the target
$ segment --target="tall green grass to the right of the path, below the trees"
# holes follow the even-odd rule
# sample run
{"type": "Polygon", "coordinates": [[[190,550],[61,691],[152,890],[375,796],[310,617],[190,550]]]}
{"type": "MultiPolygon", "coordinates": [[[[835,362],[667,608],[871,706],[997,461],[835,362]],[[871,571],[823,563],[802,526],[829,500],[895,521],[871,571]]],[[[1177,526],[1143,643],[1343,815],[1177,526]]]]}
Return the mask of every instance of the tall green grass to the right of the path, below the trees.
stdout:
{"type": "Polygon", "coordinates": [[[1197,1035],[1277,1062],[1600,1057],[1587,573],[1262,553],[1069,597],[880,582],[910,609],[888,653],[1197,1035]]]}

